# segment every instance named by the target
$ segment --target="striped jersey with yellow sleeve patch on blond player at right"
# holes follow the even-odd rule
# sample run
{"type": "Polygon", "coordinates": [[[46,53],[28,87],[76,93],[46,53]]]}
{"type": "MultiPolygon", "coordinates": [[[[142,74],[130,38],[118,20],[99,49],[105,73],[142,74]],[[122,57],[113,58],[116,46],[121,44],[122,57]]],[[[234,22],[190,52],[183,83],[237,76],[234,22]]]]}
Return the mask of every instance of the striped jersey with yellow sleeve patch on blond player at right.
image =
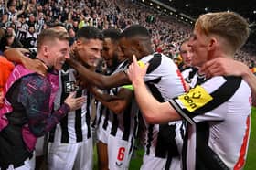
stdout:
{"type": "Polygon", "coordinates": [[[188,123],[183,169],[242,169],[250,136],[251,90],[240,77],[198,77],[169,101],[188,123]]]}

